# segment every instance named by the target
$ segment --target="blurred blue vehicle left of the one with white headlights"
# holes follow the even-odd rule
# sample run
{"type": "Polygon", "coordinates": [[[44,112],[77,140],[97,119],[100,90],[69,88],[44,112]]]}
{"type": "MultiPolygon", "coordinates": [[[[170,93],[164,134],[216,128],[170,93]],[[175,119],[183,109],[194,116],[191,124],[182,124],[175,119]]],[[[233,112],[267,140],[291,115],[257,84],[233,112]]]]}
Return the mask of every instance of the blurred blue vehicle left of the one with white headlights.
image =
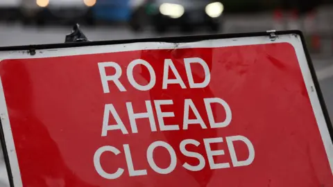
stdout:
{"type": "Polygon", "coordinates": [[[130,17],[129,0],[97,0],[92,8],[93,16],[98,21],[126,22],[130,17]]]}

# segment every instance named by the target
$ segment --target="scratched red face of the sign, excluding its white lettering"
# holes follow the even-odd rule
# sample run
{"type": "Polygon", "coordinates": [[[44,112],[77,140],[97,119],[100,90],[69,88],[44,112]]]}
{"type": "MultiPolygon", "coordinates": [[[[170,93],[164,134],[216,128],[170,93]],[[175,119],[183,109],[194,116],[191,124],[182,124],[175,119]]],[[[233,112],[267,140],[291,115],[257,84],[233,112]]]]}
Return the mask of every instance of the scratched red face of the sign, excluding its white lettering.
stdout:
{"type": "MultiPolygon", "coordinates": [[[[108,73],[112,74],[112,70],[108,73]]],[[[318,125],[290,44],[3,60],[0,75],[26,187],[333,186],[318,125]],[[207,62],[212,76],[208,87],[189,88],[185,57],[200,57],[207,62]],[[157,81],[150,91],[134,89],[126,77],[126,67],[138,58],[149,62],[155,70],[157,81]],[[187,89],[181,89],[179,84],[162,89],[163,64],[167,58],[173,60],[187,89]],[[121,92],[110,83],[110,94],[103,94],[98,62],[118,62],[123,69],[120,80],[127,91],[121,92]],[[207,126],[203,98],[222,98],[232,110],[230,125],[207,130],[190,125],[189,130],[164,132],[157,127],[157,132],[151,132],[148,119],[139,119],[137,134],[123,135],[114,130],[108,136],[101,136],[105,104],[114,105],[130,131],[126,102],[133,103],[135,112],[146,112],[144,100],[171,99],[173,106],[163,106],[162,111],[174,112],[175,117],[164,118],[164,123],[179,124],[182,128],[185,98],[194,101],[207,126]],[[203,139],[225,140],[226,136],[235,135],[246,136],[253,143],[253,163],[211,170],[203,139]],[[198,147],[187,149],[205,157],[203,170],[191,172],[182,167],[185,162],[198,164],[197,159],[180,152],[179,144],[184,139],[200,142],[198,147]],[[169,143],[176,152],[176,169],[167,175],[158,174],[148,165],[146,150],[155,141],[169,143]],[[129,177],[123,144],[130,146],[135,168],[146,169],[147,175],[129,177]],[[125,170],[118,179],[104,179],[94,168],[94,153],[104,145],[121,151],[117,156],[107,152],[101,157],[105,171],[125,170]]],[[[173,77],[171,72],[169,76],[173,77]]],[[[135,68],[134,77],[140,84],[146,84],[150,78],[144,67],[135,68]]],[[[194,66],[194,80],[203,79],[202,68],[194,66]]],[[[223,107],[216,105],[213,112],[216,121],[224,120],[223,107]]],[[[216,163],[228,162],[232,166],[225,142],[212,144],[212,150],[225,151],[225,155],[214,157],[216,163]]],[[[235,150],[239,159],[248,157],[244,144],[235,143],[235,150]]],[[[169,166],[170,156],[162,148],[155,150],[154,159],[161,168],[169,166]]]]}

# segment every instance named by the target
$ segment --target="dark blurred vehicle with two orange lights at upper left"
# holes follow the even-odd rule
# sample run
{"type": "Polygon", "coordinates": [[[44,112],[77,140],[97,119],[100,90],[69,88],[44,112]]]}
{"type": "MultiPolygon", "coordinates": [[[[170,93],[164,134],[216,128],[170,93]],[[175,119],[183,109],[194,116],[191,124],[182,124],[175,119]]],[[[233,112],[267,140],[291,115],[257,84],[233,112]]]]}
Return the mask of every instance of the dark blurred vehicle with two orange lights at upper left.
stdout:
{"type": "Polygon", "coordinates": [[[96,0],[22,0],[21,19],[24,24],[43,26],[51,21],[75,23],[83,20],[94,24],[92,6],[96,0]]]}

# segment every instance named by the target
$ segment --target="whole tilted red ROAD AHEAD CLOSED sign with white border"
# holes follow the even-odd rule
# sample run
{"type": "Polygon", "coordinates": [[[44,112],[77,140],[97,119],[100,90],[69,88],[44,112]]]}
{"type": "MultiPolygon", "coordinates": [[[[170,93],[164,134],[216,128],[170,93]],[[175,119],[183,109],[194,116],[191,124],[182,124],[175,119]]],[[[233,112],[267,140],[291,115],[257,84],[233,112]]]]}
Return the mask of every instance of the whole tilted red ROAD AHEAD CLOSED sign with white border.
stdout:
{"type": "Polygon", "coordinates": [[[299,31],[0,50],[11,186],[333,186],[299,31]]]}

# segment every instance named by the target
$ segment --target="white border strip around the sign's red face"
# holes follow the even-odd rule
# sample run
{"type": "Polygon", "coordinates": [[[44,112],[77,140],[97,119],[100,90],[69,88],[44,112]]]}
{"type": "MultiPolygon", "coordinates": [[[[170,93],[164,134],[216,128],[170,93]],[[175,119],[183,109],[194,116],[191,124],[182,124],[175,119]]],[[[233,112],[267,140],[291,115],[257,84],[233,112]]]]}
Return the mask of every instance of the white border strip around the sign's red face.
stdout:
{"type": "MultiPolygon", "coordinates": [[[[138,42],[128,44],[111,44],[103,46],[80,46],[73,48],[53,48],[40,50],[42,53],[35,55],[27,55],[25,51],[4,51],[0,52],[0,61],[6,59],[26,59],[26,58],[42,58],[42,57],[60,57],[70,55],[87,55],[96,53],[112,53],[121,51],[136,51],[136,50],[153,50],[153,49],[174,49],[174,48],[214,48],[223,46],[245,46],[255,44],[272,44],[272,43],[289,43],[293,46],[298,57],[298,63],[302,76],[307,87],[307,93],[311,101],[311,106],[314,110],[314,115],[318,124],[319,131],[325,146],[327,158],[330,162],[330,167],[333,173],[333,143],[330,137],[323,109],[318,98],[318,92],[311,76],[307,57],[302,45],[300,35],[285,34],[278,35],[275,41],[272,41],[267,36],[255,37],[230,37],[225,39],[206,39],[200,42],[189,43],[167,43],[167,42],[138,42]]],[[[10,128],[10,121],[8,117],[8,110],[6,107],[6,100],[3,94],[3,87],[0,78],[0,117],[3,125],[3,134],[6,140],[6,148],[8,152],[10,168],[12,172],[12,180],[15,187],[22,187],[22,179],[19,171],[19,163],[15,152],[14,140],[10,128]]]]}

